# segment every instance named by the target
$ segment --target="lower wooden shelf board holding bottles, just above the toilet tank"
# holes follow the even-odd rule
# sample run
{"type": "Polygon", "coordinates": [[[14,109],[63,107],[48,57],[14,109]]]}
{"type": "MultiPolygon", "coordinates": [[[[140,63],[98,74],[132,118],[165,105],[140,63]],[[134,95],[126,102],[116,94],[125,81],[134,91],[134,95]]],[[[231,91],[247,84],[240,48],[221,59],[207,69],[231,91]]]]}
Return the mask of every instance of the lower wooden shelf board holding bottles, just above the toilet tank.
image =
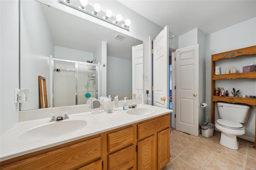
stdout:
{"type": "Polygon", "coordinates": [[[242,98],[242,97],[229,97],[229,96],[212,96],[212,101],[225,101],[228,103],[245,103],[248,105],[256,105],[256,99],[242,98]]]}

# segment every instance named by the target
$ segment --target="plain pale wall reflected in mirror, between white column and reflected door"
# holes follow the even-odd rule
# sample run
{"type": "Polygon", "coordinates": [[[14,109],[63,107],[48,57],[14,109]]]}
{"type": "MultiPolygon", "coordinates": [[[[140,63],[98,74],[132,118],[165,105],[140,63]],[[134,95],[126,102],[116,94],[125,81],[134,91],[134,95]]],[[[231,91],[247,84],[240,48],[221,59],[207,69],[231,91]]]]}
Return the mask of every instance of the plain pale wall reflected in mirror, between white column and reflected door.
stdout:
{"type": "Polygon", "coordinates": [[[107,73],[107,95],[132,95],[132,60],[107,56],[107,73]]]}

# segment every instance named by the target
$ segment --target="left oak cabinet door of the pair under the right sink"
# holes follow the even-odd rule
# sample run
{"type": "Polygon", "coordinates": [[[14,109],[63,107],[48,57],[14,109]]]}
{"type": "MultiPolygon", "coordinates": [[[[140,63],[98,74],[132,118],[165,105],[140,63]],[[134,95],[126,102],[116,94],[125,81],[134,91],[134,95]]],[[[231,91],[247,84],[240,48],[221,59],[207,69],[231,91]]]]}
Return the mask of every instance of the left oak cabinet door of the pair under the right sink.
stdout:
{"type": "Polygon", "coordinates": [[[156,169],[156,136],[138,142],[138,170],[156,169]]]}

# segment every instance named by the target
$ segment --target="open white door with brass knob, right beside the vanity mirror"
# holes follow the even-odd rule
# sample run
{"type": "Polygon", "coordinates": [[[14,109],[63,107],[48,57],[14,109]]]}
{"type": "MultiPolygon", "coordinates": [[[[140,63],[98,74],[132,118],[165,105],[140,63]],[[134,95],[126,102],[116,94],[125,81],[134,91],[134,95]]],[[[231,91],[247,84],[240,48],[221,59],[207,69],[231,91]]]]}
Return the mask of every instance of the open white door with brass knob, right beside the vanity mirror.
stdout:
{"type": "Polygon", "coordinates": [[[169,61],[169,26],[153,40],[153,95],[154,106],[168,109],[168,61],[169,61]]]}

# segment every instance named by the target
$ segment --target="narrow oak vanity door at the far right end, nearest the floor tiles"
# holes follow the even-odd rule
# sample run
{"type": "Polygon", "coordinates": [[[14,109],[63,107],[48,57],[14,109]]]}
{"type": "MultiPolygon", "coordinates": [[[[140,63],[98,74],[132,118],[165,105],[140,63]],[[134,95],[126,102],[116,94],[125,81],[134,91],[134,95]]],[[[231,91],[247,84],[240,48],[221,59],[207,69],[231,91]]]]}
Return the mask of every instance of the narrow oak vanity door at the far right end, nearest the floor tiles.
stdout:
{"type": "Polygon", "coordinates": [[[160,170],[168,162],[170,162],[170,128],[162,130],[157,134],[158,140],[158,164],[157,168],[160,170]]]}

